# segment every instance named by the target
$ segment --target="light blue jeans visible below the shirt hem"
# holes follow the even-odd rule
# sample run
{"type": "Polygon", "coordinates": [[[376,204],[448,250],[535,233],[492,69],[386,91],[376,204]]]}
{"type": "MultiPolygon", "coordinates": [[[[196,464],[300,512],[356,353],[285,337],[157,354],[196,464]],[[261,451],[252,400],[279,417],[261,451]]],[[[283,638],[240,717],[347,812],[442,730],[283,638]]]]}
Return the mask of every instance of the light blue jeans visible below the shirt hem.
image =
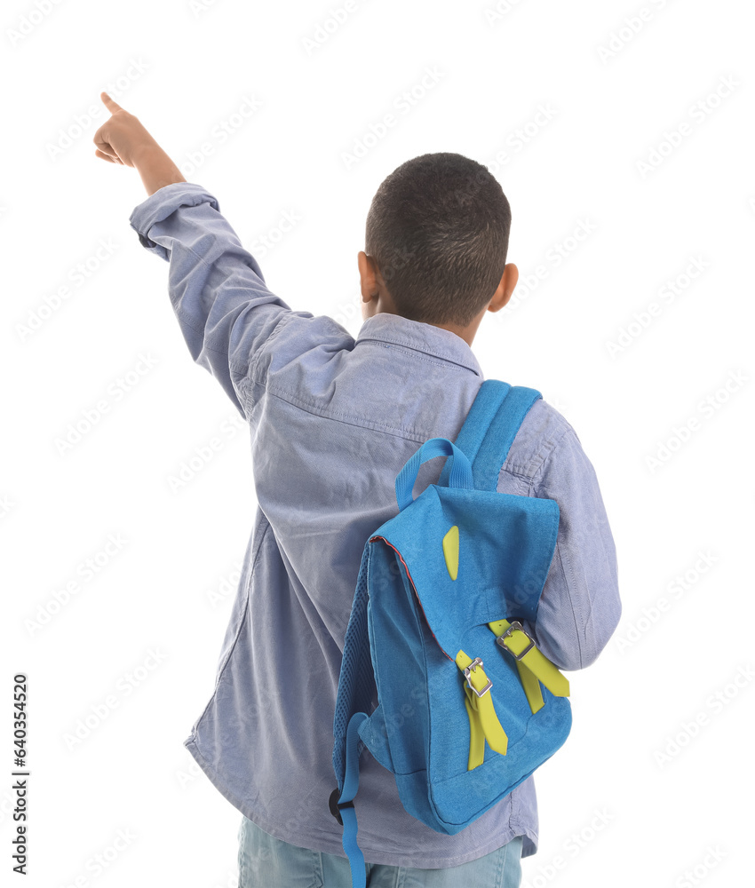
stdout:
{"type": "MultiPolygon", "coordinates": [[[[521,836],[478,860],[448,869],[368,863],[368,888],[519,888],[521,836]]],[[[239,888],[351,888],[345,857],[308,851],[268,836],[244,817],[239,827],[239,888]]]]}

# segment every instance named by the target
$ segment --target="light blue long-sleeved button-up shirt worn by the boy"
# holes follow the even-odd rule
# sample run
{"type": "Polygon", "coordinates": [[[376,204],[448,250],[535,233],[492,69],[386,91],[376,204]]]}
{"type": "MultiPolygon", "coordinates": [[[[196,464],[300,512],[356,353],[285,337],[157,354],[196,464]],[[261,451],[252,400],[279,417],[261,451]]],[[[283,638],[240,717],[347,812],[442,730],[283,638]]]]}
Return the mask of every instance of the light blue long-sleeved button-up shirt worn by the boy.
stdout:
{"type": "MultiPolygon", "coordinates": [[[[184,745],[261,829],[343,856],[328,808],[333,714],[362,550],[397,514],[394,483],[409,456],[428,438],[456,440],[480,364],[456,333],[396,314],[368,318],[354,339],[330,317],[293,311],[202,186],[164,186],[129,222],[170,263],[171,305],[192,358],[250,426],[258,502],[215,691],[184,745]]],[[[443,462],[420,467],[416,495],[443,462]]],[[[559,504],[534,634],[557,666],[582,669],[621,614],[616,548],[592,464],[545,400],[525,417],[497,489],[559,504]]],[[[447,868],[520,835],[522,856],[536,852],[531,777],[446,836],[404,811],[393,775],[365,753],[355,804],[370,862],[447,868]]]]}

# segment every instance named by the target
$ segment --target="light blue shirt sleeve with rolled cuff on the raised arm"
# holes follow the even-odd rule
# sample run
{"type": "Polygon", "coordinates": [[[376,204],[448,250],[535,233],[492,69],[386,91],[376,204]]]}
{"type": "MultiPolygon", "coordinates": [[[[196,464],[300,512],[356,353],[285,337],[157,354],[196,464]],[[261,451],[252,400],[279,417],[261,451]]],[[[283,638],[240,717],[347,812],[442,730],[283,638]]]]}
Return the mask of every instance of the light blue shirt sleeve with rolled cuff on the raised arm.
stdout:
{"type": "Polygon", "coordinates": [[[129,225],[170,263],[171,305],[192,358],[249,419],[251,369],[290,306],[267,289],[257,261],[202,186],[163,186],[131,212],[129,225]]]}

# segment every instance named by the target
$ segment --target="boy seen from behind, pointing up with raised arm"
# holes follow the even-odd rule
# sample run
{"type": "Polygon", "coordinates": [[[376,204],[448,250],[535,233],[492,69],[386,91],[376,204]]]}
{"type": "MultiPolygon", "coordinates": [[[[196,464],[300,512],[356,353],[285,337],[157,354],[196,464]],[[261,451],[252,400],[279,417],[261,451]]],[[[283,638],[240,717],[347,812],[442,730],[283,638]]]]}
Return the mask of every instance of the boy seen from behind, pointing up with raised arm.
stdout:
{"type": "MultiPolygon", "coordinates": [[[[362,329],[292,311],[219,212],[107,93],[96,155],[139,170],[139,241],[170,262],[169,292],[193,359],[250,424],[258,511],[215,693],[185,741],[242,812],[242,886],[349,885],[330,815],[333,714],[346,625],[368,535],[397,513],[394,481],[428,438],[456,440],[482,383],[470,348],[509,300],[511,214],[495,178],[461,155],[423,155],[379,187],[359,253],[362,329]]],[[[513,380],[512,380],[513,382],[513,380]]],[[[417,493],[442,462],[420,468],[417,493]]],[[[555,499],[556,551],[537,645],[588,666],[621,613],[616,549],[592,464],[544,400],[529,410],[499,492],[555,499]]],[[[532,627],[526,626],[530,632],[532,627]]],[[[530,777],[456,836],[406,813],[393,775],[365,756],[359,842],[368,883],[516,886],[536,852],[530,777]]]]}

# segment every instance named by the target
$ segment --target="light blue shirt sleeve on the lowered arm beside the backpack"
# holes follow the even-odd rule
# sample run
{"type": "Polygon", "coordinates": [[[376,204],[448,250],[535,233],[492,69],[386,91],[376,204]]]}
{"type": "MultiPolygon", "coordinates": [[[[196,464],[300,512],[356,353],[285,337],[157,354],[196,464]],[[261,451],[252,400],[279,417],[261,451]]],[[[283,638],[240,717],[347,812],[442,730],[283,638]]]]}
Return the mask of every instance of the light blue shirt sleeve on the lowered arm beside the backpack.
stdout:
{"type": "Polygon", "coordinates": [[[533,478],[559,504],[556,549],[537,608],[537,645],[564,670],[584,669],[621,617],[616,545],[592,463],[568,425],[533,478]]]}

